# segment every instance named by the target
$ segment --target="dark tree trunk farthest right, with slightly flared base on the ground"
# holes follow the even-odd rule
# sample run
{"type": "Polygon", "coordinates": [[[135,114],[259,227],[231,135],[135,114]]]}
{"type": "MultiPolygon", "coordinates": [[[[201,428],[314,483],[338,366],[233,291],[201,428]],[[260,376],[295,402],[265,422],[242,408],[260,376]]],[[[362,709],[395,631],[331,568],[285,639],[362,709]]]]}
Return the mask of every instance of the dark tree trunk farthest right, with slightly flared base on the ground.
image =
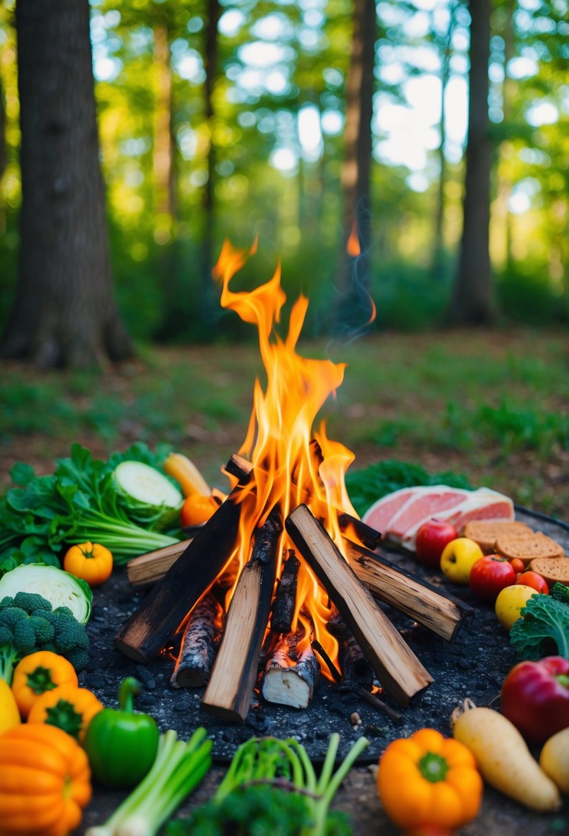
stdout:
{"type": "Polygon", "coordinates": [[[461,251],[451,300],[456,324],[480,325],[494,318],[489,226],[491,144],[488,137],[488,61],[491,0],[470,0],[466,181],[461,251]]]}

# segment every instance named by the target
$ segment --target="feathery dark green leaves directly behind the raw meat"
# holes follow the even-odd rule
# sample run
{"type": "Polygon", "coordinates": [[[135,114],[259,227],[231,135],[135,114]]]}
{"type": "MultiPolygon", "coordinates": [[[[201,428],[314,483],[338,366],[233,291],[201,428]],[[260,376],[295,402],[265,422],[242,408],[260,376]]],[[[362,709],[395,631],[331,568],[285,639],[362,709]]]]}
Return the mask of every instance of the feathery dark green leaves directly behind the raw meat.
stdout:
{"type": "Polygon", "coordinates": [[[429,474],[425,468],[410,461],[387,459],[364,467],[360,471],[349,471],[345,486],[355,510],[362,516],[370,505],[381,497],[401,487],[416,485],[448,485],[471,490],[471,483],[465,476],[444,471],[429,474]]]}

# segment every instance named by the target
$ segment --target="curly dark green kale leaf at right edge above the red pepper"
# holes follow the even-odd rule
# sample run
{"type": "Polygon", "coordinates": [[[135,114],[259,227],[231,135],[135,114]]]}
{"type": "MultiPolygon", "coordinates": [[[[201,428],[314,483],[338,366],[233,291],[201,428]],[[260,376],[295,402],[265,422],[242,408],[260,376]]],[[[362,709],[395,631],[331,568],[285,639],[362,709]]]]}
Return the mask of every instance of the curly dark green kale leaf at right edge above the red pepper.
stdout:
{"type": "Polygon", "coordinates": [[[569,659],[569,607],[551,595],[532,595],[510,630],[522,659],[560,655],[569,659]]]}

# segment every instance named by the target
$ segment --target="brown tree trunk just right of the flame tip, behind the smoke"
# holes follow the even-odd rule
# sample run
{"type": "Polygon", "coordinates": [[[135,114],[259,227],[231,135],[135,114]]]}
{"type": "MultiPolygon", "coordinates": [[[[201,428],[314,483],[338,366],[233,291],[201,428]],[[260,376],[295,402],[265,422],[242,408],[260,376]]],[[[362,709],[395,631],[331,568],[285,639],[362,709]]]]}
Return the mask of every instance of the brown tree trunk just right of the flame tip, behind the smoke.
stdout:
{"type": "Polygon", "coordinates": [[[340,331],[365,325],[371,308],[370,171],[375,33],[374,0],[355,0],[350,70],[346,82],[345,152],[342,168],[344,216],[335,310],[335,328],[340,331]],[[360,242],[358,256],[348,252],[348,241],[355,225],[360,242]]]}

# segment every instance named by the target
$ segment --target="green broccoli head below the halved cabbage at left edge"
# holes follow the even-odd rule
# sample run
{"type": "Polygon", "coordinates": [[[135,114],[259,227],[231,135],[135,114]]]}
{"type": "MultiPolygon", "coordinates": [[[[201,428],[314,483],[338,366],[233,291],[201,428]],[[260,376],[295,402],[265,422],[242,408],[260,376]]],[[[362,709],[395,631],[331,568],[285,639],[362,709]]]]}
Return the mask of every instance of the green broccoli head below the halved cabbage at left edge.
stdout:
{"type": "Polygon", "coordinates": [[[0,600],[0,677],[8,685],[19,660],[36,650],[53,650],[83,670],[88,647],[83,624],[67,607],[53,610],[42,595],[27,592],[0,600]]]}

